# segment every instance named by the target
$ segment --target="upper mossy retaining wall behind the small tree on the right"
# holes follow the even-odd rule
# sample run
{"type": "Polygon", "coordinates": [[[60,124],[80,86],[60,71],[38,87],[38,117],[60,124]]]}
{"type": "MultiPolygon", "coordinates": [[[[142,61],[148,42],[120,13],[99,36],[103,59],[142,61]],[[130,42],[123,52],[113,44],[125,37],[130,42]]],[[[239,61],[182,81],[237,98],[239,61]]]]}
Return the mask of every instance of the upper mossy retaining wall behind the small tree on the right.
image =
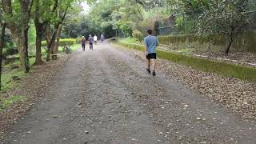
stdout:
{"type": "MultiPolygon", "coordinates": [[[[178,48],[194,47],[198,50],[226,50],[229,38],[223,35],[198,36],[192,34],[159,36],[161,44],[178,48]]],[[[230,51],[256,52],[256,31],[238,34],[230,48],[230,51]]]]}

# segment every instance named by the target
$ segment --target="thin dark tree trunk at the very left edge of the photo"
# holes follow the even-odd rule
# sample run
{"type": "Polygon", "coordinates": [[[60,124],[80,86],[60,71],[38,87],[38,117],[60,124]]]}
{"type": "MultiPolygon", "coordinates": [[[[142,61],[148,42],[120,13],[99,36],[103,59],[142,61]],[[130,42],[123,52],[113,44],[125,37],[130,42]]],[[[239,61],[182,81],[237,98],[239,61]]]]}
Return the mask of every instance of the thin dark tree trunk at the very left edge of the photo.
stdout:
{"type": "Polygon", "coordinates": [[[6,23],[2,24],[1,38],[0,38],[0,91],[2,90],[2,50],[5,46],[6,23]]]}

